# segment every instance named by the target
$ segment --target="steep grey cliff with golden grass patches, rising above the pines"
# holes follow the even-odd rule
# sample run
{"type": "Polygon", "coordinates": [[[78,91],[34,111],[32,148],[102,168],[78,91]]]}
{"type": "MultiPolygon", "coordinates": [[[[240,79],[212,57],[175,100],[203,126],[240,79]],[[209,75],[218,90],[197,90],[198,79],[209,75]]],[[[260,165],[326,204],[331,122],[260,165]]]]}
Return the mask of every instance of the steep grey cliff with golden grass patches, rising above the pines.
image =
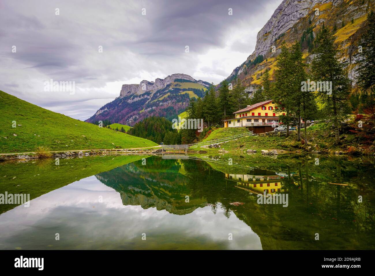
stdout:
{"type": "MultiPolygon", "coordinates": [[[[359,57],[353,49],[357,49],[367,13],[372,9],[372,5],[371,1],[283,0],[258,32],[254,52],[233,70],[227,80],[232,82],[238,78],[243,81],[244,86],[254,90],[261,83],[261,76],[266,69],[270,70],[273,80],[277,57],[284,42],[290,47],[296,41],[301,41],[303,54],[310,63],[313,57],[313,41],[324,23],[333,33],[339,58],[348,69],[348,77],[354,86],[357,76],[355,62],[359,57]]],[[[251,96],[251,91],[248,92],[251,96]]]]}

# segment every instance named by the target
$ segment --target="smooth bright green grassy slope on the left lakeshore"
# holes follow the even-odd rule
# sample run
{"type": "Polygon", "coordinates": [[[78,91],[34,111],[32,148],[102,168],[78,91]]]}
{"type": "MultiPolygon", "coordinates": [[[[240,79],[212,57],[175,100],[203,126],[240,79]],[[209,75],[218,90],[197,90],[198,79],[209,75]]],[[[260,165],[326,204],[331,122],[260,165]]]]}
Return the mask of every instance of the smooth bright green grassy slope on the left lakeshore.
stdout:
{"type": "Polygon", "coordinates": [[[39,146],[53,151],[157,145],[46,110],[3,91],[0,91],[0,120],[0,153],[35,151],[39,146]]]}

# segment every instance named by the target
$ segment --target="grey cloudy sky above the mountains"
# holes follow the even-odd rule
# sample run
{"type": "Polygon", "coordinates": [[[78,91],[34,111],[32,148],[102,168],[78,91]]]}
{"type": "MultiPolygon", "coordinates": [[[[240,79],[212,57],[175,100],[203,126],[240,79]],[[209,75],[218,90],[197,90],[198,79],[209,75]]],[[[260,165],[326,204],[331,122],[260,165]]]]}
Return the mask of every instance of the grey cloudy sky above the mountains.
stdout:
{"type": "Polygon", "coordinates": [[[254,51],[281,2],[1,0],[0,90],[86,120],[122,84],[175,73],[217,84],[254,51]],[[51,79],[74,81],[75,93],[46,92],[51,79]]]}

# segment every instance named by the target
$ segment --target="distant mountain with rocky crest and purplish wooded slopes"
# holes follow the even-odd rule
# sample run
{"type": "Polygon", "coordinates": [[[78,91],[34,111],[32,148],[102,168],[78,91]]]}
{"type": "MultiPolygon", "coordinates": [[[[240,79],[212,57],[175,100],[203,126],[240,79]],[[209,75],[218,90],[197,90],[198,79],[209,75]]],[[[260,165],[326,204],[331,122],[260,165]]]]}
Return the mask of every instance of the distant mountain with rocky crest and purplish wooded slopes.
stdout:
{"type": "Polygon", "coordinates": [[[110,120],[112,123],[133,126],[150,116],[172,120],[185,110],[190,98],[203,97],[210,85],[181,73],[168,75],[164,79],[156,78],[155,81],[123,84],[120,95],[99,108],[86,121],[110,120]]]}

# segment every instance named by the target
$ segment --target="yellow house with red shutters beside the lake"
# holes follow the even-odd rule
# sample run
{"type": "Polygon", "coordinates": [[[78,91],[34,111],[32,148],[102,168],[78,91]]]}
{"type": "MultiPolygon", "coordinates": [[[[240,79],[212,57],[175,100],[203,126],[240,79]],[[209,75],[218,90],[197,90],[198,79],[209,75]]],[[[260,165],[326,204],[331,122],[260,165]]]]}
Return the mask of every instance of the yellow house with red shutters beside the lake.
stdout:
{"type": "Polygon", "coordinates": [[[270,126],[275,128],[279,125],[278,115],[282,114],[282,112],[278,112],[275,103],[272,100],[269,100],[258,102],[254,105],[248,105],[246,108],[238,110],[233,114],[235,116],[234,118],[224,120],[224,127],[270,126]]]}

